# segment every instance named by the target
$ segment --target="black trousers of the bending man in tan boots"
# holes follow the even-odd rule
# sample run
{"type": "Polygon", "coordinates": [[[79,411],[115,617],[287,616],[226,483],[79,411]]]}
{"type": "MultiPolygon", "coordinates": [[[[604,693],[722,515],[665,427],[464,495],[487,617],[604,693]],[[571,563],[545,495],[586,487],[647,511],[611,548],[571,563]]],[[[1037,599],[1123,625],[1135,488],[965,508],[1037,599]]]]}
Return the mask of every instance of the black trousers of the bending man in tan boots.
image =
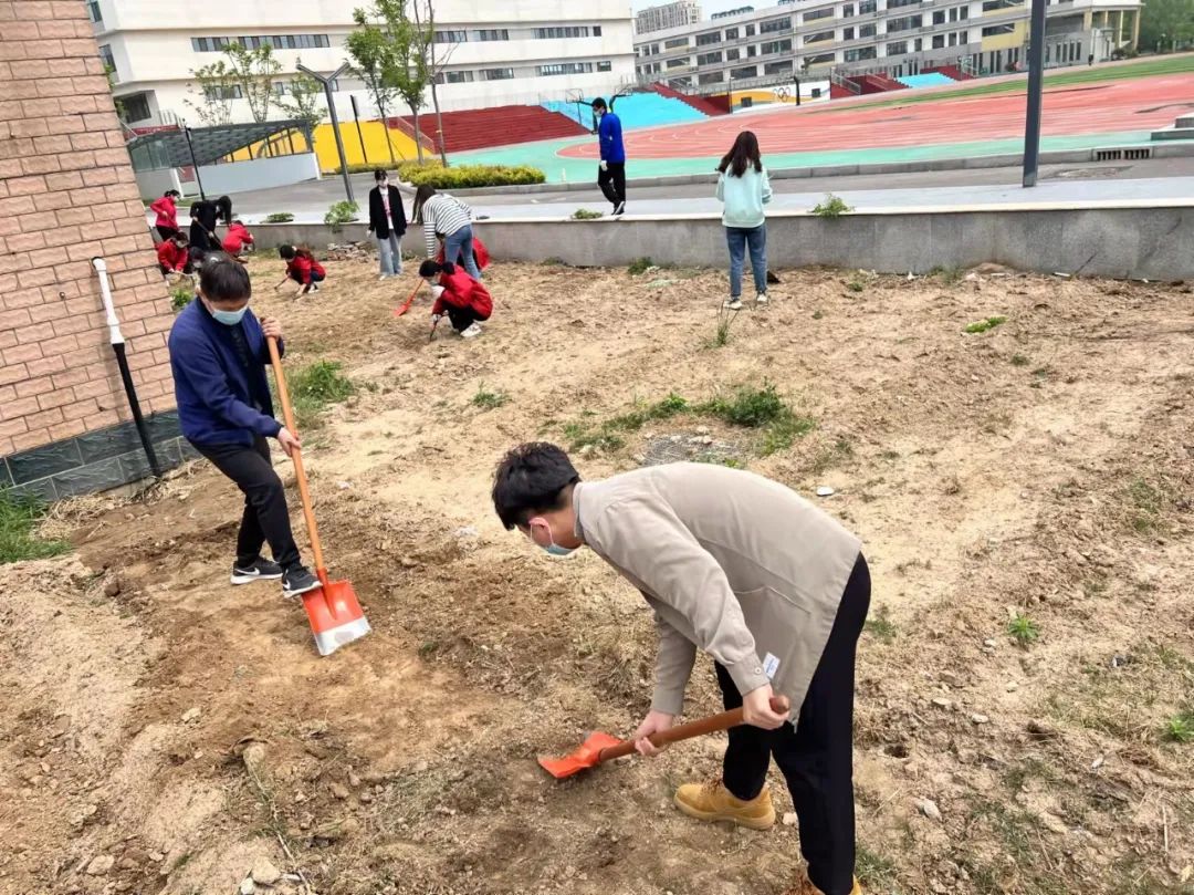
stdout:
{"type": "MultiPolygon", "coordinates": [[[[870,572],[858,556],[796,727],[730,730],[722,783],[737,798],[763,791],[775,764],[788,783],[800,821],[800,851],[808,878],[825,895],[854,888],[854,657],[870,608],[870,572]]],[[[743,704],[730,673],[718,666],[726,709],[743,704]]]]}

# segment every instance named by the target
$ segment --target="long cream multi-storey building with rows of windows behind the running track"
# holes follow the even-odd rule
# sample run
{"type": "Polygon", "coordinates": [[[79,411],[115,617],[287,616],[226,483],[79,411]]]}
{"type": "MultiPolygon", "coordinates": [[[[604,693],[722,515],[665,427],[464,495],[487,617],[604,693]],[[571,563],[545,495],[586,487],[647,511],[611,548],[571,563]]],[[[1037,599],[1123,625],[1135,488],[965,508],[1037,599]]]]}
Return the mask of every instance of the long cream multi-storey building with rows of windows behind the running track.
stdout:
{"type": "MultiPolygon", "coordinates": [[[[1030,2],[1030,0],[1029,0],[1030,2]]],[[[635,37],[641,82],[724,93],[830,72],[905,76],[1026,63],[1026,0],[780,0],[778,6],[635,37]]],[[[1140,0],[1048,0],[1047,66],[1087,65],[1134,44],[1140,0]]]]}

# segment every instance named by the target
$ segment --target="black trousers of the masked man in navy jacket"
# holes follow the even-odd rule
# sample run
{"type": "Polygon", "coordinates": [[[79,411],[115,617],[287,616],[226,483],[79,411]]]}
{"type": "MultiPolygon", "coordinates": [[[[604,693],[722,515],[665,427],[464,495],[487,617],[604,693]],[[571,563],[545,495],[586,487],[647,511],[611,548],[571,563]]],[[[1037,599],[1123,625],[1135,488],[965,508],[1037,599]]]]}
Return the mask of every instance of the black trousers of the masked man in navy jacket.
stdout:
{"type": "MultiPolygon", "coordinates": [[[[191,442],[195,445],[195,442],[191,442]]],[[[290,511],[282,479],[270,464],[270,446],[258,437],[252,447],[246,445],[195,445],[224,476],[236,483],[245,495],[245,514],[236,537],[236,562],[251,563],[261,553],[261,545],[270,542],[273,562],[283,569],[300,564],[298,545],[290,531],[290,511]]]]}

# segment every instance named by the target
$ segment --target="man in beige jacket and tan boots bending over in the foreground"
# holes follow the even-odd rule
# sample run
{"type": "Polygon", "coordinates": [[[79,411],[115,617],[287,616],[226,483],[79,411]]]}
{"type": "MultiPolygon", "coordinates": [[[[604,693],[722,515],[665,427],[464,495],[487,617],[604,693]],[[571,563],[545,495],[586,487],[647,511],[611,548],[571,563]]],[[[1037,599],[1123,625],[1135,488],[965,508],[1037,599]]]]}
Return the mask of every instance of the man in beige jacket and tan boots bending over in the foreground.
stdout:
{"type": "Polygon", "coordinates": [[[684,706],[697,648],[716,663],[730,730],[721,777],[685,784],[676,807],[767,829],[774,758],[800,821],[807,876],[792,893],[857,895],[854,878],[854,664],[870,605],[858,539],[783,485],[709,464],[669,464],[581,482],[554,445],[513,448],[494,476],[507,529],[561,556],[587,546],[636,587],[659,632],[640,753],[684,706]],[[771,710],[773,693],[793,715],[771,710]],[[798,709],[799,706],[799,709],[798,709]]]}

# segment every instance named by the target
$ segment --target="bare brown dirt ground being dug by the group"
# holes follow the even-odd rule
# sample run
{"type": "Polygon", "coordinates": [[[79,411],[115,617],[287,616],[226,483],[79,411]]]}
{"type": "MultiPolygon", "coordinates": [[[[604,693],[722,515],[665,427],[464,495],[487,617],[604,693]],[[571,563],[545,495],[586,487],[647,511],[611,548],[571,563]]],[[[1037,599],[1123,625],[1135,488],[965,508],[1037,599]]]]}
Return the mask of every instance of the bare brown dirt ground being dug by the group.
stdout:
{"type": "MultiPolygon", "coordinates": [[[[653,630],[599,560],[544,557],[488,503],[516,442],[764,379],[816,419],[790,448],[764,458],[682,415],[577,459],[596,478],[697,434],[836,489],[823,503],[875,583],[866,890],[1194,893],[1194,743],[1163,731],[1194,711],[1188,287],[780,271],[773,307],[712,348],[720,272],[499,264],[486,335],[429,342],[425,298],[390,313],[410,272],[333,260],[293,301],[269,289],[275,262],[252,270],[288,364],[339,360],[357,385],[308,466],[333,576],[374,633],[319,658],[297,603],[229,587],[240,497],[203,465],[66,513],[74,556],[0,569],[0,893],[224,894],[254,864],[258,891],[326,895],[782,891],[794,826],[670,805],[718,773],[716,738],[540,771],[591,729],[633,729],[653,630]],[[509,400],[474,405],[482,382],[509,400]],[[1026,646],[1016,613],[1039,631],[1026,646]]],[[[689,695],[691,716],[719,707],[703,658],[689,695]]]]}

